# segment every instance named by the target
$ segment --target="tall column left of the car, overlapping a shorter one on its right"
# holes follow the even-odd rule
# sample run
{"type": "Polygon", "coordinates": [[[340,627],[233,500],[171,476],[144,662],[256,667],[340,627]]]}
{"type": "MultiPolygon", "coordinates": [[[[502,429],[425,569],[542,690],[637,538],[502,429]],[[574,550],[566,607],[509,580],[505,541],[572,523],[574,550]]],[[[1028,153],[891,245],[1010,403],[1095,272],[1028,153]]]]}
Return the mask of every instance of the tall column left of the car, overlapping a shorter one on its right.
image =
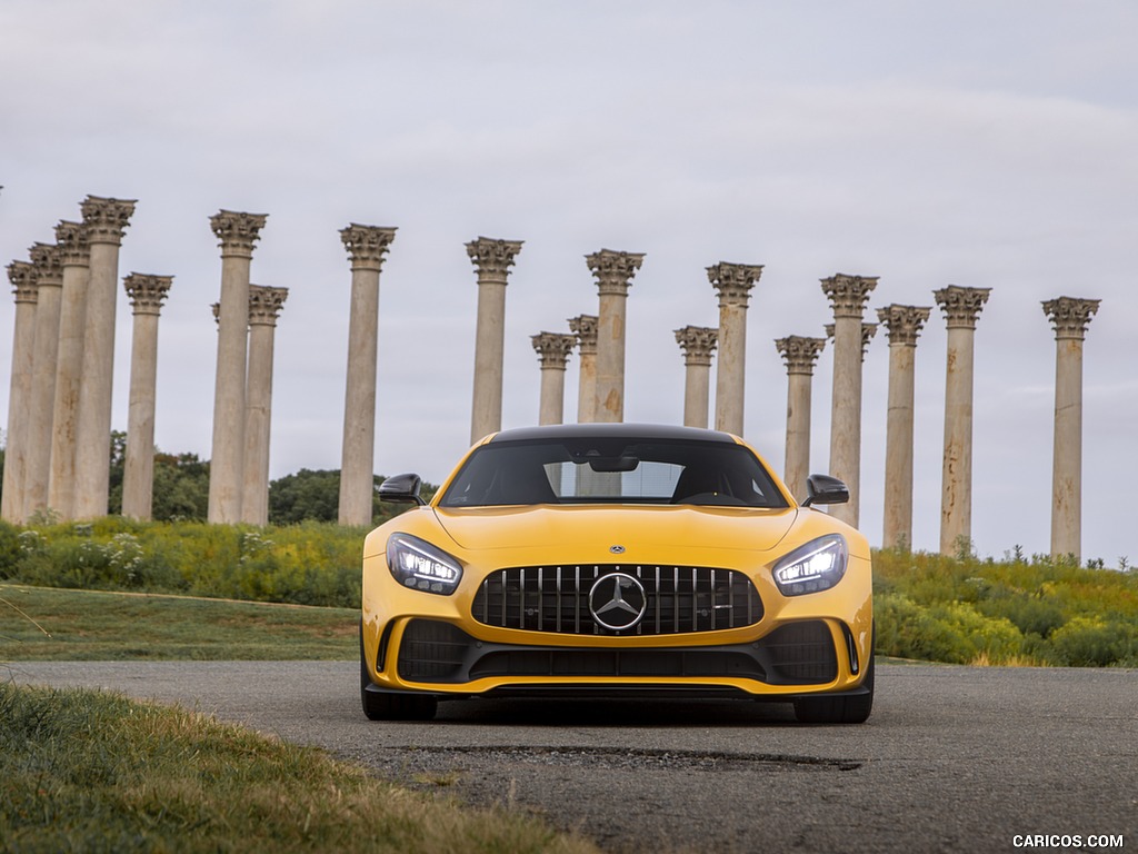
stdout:
{"type": "Polygon", "coordinates": [[[249,327],[249,266],[267,214],[220,211],[209,225],[221,241],[221,310],[214,384],[213,454],[209,461],[212,523],[241,518],[245,477],[245,380],[249,327]]]}

